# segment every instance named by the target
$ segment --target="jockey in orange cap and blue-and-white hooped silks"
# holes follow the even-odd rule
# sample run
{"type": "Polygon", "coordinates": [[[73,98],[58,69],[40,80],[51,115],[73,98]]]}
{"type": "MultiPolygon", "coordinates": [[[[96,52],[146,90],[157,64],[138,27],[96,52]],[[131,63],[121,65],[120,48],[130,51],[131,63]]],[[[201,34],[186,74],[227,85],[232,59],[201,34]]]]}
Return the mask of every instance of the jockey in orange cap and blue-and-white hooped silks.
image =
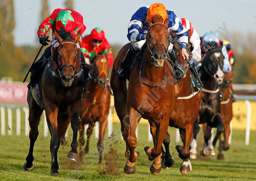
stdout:
{"type": "MultiPolygon", "coordinates": [[[[124,76],[122,71],[130,64],[131,56],[139,52],[139,50],[146,41],[145,39],[149,28],[148,25],[145,23],[146,18],[152,19],[152,16],[156,14],[160,14],[163,18],[163,21],[165,21],[165,19],[169,20],[168,28],[177,35],[177,38],[181,44],[183,59],[188,59],[188,37],[186,28],[181,24],[180,19],[174,14],[174,12],[167,11],[163,4],[155,3],[151,6],[144,6],[139,8],[133,14],[130,20],[130,23],[128,25],[127,38],[129,39],[129,41],[132,42],[132,46],[128,50],[126,57],[123,60],[123,63],[120,65],[120,68],[117,71],[119,76],[124,76]]],[[[180,79],[183,77],[184,71],[182,68],[180,68],[180,65],[176,60],[175,53],[172,49],[172,44],[169,45],[168,52],[172,61],[176,64],[175,69],[179,70],[178,72],[180,72],[180,76],[176,78],[180,79]]]]}

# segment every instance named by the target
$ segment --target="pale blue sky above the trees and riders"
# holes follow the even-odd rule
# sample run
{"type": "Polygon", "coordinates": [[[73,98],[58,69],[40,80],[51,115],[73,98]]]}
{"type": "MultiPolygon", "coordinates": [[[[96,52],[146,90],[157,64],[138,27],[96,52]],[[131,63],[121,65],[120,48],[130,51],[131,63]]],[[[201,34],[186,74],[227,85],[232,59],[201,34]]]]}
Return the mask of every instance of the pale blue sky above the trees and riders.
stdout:
{"type": "MultiPolygon", "coordinates": [[[[55,8],[66,8],[65,0],[48,0],[49,13],[55,8]]],[[[90,34],[95,27],[105,31],[110,44],[124,45],[128,41],[127,27],[130,18],[138,8],[156,1],[137,0],[73,0],[74,10],[84,17],[87,27],[84,35],[90,34]]],[[[212,0],[212,1],[158,1],[167,10],[173,11],[179,18],[187,18],[199,36],[207,31],[215,31],[225,23],[228,32],[239,31],[247,35],[256,32],[256,1],[247,0],[212,0]]],[[[37,37],[40,22],[41,0],[14,0],[16,27],[16,45],[39,45],[37,37]]],[[[222,31],[222,33],[226,33],[222,31]]]]}

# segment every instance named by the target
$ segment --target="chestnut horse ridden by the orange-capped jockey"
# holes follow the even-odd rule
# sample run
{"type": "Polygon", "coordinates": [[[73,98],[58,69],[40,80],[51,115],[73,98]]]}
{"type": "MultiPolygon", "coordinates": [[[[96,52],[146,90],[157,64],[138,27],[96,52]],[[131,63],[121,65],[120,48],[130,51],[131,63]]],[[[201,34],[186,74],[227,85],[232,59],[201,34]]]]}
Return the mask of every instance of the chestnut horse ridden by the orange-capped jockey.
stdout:
{"type": "Polygon", "coordinates": [[[134,174],[135,161],[139,152],[135,151],[137,137],[135,131],[141,117],[155,123],[153,129],[154,148],[145,147],[148,159],[153,161],[150,166],[152,174],[161,171],[161,146],[168,129],[169,117],[174,106],[174,78],[173,72],[165,60],[169,47],[169,21],[164,23],[161,15],[152,16],[145,23],[148,24],[148,35],[145,51],[140,52],[142,60],[130,73],[130,81],[119,80],[117,70],[131,46],[130,43],[119,51],[113,65],[110,84],[113,89],[116,113],[121,122],[123,139],[126,142],[125,157],[127,158],[124,172],[134,174]],[[143,54],[143,55],[142,55],[143,54]],[[128,88],[128,90],[127,90],[128,88]]]}

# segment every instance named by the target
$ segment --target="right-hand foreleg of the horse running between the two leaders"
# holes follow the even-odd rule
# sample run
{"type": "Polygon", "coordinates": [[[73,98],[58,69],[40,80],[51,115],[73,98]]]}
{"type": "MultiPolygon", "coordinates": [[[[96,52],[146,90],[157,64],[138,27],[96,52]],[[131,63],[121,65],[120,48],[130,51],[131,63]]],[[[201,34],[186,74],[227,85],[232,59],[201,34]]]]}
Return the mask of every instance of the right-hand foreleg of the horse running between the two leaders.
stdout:
{"type": "Polygon", "coordinates": [[[99,122],[100,122],[100,130],[99,130],[99,140],[98,140],[97,148],[101,148],[101,150],[102,150],[101,153],[99,153],[99,157],[100,157],[99,163],[101,163],[102,155],[104,153],[102,143],[103,143],[105,130],[106,130],[107,122],[108,122],[108,116],[105,115],[103,117],[100,117],[99,122]]]}

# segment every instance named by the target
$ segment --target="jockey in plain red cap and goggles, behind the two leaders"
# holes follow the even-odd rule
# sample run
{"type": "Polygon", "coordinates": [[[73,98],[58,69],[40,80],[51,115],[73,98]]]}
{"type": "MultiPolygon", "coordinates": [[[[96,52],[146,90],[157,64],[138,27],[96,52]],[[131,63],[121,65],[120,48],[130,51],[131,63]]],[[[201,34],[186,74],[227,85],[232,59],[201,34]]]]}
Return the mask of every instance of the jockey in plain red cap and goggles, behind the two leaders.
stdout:
{"type": "MultiPolygon", "coordinates": [[[[110,49],[110,52],[108,54],[108,62],[109,62],[108,68],[110,68],[113,65],[112,48],[110,48],[108,41],[105,39],[105,33],[101,28],[94,28],[91,31],[90,35],[86,35],[82,39],[81,51],[86,56],[85,61],[87,62],[87,64],[90,64],[90,59],[92,59],[95,56],[93,51],[94,47],[96,48],[96,51],[98,53],[99,52],[107,53],[108,49],[110,49]]],[[[108,81],[108,89],[110,91],[110,94],[113,95],[109,81],[108,81]]]]}

